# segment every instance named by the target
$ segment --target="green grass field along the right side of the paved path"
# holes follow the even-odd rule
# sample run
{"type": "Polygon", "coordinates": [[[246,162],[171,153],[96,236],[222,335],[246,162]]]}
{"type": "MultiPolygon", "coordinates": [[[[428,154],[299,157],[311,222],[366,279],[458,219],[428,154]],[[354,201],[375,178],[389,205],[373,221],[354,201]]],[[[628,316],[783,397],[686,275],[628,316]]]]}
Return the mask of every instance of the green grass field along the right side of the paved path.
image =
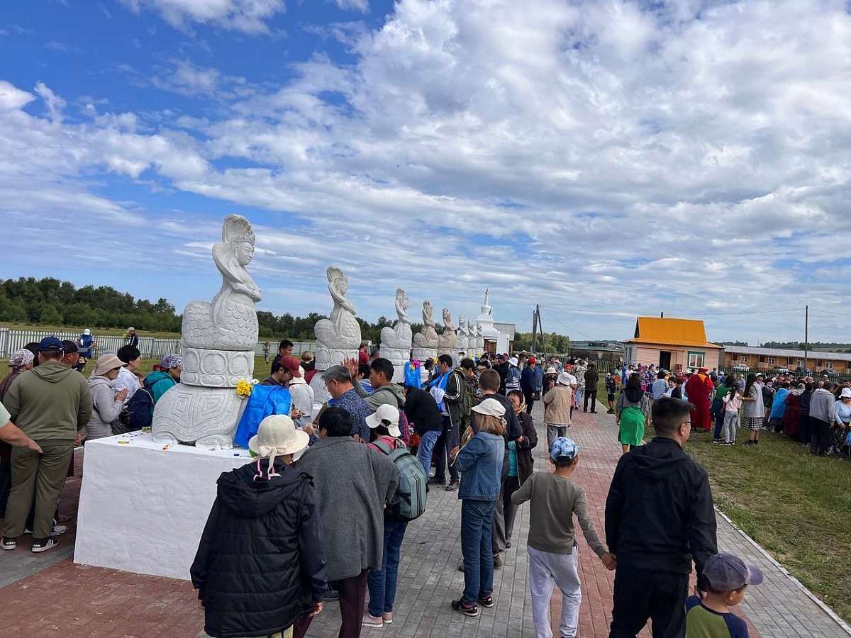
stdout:
{"type": "MultiPolygon", "coordinates": [[[[598,397],[605,402],[605,387],[598,397]]],[[[649,441],[650,430],[645,436],[649,441]]],[[[851,462],[814,457],[788,436],[719,446],[694,432],[686,451],[709,472],[719,510],[846,621],[851,619],[851,462]]]]}

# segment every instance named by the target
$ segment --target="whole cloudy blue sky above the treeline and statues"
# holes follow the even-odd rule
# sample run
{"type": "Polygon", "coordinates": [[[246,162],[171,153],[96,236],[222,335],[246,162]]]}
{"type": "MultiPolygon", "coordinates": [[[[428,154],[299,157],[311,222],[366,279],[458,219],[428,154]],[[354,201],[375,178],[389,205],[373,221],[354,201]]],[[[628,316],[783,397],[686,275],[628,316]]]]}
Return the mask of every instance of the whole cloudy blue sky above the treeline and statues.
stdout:
{"type": "Polygon", "coordinates": [[[328,312],[334,264],[369,319],[489,286],[574,339],[800,339],[809,304],[848,340],[844,3],[522,4],[4,3],[3,276],[182,308],[236,212],[276,313],[328,312]]]}

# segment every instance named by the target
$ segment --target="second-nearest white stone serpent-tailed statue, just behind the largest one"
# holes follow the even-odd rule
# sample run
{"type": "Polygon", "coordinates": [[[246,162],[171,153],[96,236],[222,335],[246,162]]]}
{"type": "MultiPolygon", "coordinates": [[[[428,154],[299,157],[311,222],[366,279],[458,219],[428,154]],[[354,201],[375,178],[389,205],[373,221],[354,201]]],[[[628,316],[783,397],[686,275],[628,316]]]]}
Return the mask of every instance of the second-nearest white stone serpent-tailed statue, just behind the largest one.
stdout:
{"type": "Polygon", "coordinates": [[[334,299],[334,309],[328,319],[320,319],[313,331],[317,335],[316,369],[323,371],[357,357],[361,345],[361,326],[355,318],[355,306],[346,299],[349,280],[343,271],[331,266],[326,271],[328,293],[334,299]]]}

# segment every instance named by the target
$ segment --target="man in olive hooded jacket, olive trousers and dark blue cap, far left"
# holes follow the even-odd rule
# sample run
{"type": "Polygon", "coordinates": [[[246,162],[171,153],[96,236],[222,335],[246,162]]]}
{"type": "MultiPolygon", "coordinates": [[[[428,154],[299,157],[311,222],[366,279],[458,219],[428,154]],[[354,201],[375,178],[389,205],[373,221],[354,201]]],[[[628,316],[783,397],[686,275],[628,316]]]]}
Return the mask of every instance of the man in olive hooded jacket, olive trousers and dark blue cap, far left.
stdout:
{"type": "Polygon", "coordinates": [[[41,446],[38,454],[26,447],[12,452],[12,491],[6,505],[3,550],[14,550],[24,532],[33,494],[36,511],[32,527],[32,551],[50,550],[58,544],[50,538],[53,515],[74,446],[92,415],[92,397],[86,379],[61,363],[62,342],[46,337],[38,345],[38,367],[22,373],[4,396],[12,421],[41,446]]]}

